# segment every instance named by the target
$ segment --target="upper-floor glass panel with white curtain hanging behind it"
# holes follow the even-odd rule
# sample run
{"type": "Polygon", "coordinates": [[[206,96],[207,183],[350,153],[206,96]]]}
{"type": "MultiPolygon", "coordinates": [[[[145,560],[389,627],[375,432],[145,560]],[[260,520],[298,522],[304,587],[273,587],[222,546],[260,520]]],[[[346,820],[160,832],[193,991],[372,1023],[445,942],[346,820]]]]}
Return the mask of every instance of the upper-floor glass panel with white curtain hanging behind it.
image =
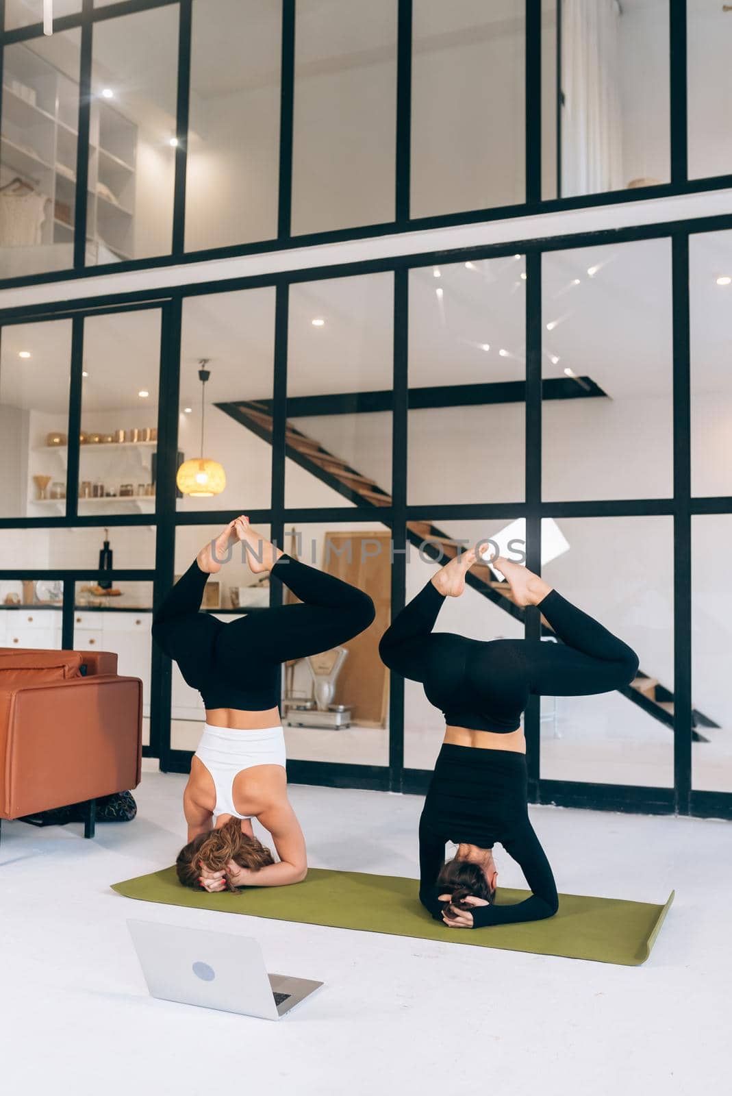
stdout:
{"type": "MultiPolygon", "coordinates": [[[[546,16],[546,13],[545,13],[546,16]]],[[[667,0],[562,0],[557,73],[561,191],[544,197],[632,190],[671,179],[667,0]]],[[[557,41],[557,20],[544,35],[557,41]]],[[[544,54],[546,58],[546,52],[544,54]]],[[[545,115],[557,130],[557,118],[545,115]]]]}

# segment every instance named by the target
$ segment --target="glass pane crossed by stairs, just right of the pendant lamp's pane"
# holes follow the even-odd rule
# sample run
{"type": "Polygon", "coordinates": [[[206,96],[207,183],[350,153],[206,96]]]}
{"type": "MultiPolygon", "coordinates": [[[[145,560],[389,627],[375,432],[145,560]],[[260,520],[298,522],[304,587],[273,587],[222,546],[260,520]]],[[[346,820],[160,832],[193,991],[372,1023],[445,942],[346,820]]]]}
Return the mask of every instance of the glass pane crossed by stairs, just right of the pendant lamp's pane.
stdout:
{"type": "Polygon", "coordinates": [[[393,276],[289,290],[287,506],[391,503],[393,276]]]}

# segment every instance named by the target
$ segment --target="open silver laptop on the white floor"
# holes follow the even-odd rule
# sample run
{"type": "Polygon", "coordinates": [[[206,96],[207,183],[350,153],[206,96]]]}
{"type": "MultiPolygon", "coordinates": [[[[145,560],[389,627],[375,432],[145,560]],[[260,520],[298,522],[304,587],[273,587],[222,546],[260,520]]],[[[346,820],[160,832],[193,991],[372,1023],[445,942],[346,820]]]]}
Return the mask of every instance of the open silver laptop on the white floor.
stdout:
{"type": "Polygon", "coordinates": [[[153,997],[276,1020],[323,983],[267,974],[262,949],[249,936],[128,921],[153,997]]]}

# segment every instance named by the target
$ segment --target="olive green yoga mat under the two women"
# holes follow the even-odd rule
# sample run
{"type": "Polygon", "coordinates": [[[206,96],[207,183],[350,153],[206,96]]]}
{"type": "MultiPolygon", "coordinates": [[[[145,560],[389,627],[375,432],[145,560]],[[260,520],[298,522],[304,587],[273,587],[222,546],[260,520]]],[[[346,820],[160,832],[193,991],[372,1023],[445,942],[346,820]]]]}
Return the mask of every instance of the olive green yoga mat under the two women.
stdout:
{"type": "MultiPolygon", "coordinates": [[[[125,898],[195,910],[247,913],[253,917],[297,921],[307,925],[355,928],[391,936],[414,936],[508,951],[594,959],[626,967],[645,962],[674,900],[665,905],[621,899],[560,894],[559,913],[547,921],[493,928],[447,928],[433,921],[418,899],[414,879],[368,876],[358,871],[310,868],[305,882],[208,894],[181,887],[174,868],[114,883],[125,898]]],[[[527,891],[501,888],[499,902],[521,902],[527,891]]]]}

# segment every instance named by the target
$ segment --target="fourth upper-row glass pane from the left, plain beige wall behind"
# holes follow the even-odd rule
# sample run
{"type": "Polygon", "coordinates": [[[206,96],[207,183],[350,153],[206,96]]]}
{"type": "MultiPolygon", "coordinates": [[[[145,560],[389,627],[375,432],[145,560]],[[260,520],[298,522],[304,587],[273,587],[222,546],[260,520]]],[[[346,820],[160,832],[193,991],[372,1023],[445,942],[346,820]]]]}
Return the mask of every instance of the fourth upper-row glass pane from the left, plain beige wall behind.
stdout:
{"type": "Polygon", "coordinates": [[[394,216],[397,0],[298,0],[293,232],[394,216]]]}

